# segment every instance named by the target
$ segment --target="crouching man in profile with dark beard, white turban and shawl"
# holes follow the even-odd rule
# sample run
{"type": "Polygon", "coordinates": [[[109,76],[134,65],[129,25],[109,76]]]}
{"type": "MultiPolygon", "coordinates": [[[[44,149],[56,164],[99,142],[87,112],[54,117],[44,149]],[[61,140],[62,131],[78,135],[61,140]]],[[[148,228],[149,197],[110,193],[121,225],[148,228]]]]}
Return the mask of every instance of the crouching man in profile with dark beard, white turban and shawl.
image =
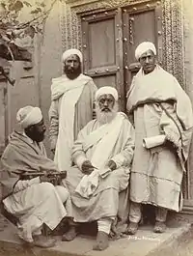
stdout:
{"type": "Polygon", "coordinates": [[[56,228],[67,212],[63,205],[68,198],[67,189],[51,184],[46,172],[57,171],[55,163],[47,158],[42,144],[45,127],[39,107],[25,106],[17,112],[21,132],[14,131],[1,158],[9,173],[5,181],[7,195],[4,208],[17,219],[18,236],[31,245],[51,247],[52,239],[41,236],[42,224],[56,228]],[[31,180],[21,180],[23,173],[44,173],[31,180]]]}

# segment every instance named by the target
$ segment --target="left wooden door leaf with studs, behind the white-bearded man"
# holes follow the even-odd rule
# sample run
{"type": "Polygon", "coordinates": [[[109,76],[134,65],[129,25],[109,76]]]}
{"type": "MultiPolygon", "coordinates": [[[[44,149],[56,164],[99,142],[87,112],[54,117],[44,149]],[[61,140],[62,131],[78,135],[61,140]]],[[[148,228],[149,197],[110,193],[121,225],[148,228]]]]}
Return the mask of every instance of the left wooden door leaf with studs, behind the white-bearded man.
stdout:
{"type": "Polygon", "coordinates": [[[93,77],[97,87],[116,87],[124,110],[121,9],[82,15],[81,18],[84,73],[93,77]]]}

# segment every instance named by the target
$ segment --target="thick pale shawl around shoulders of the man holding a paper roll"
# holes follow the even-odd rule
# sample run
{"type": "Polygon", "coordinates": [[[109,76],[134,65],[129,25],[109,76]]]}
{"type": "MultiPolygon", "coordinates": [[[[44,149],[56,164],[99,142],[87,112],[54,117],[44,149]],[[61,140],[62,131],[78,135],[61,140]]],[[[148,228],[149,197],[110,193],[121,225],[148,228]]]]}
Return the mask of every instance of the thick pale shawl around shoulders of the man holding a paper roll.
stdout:
{"type": "Polygon", "coordinates": [[[144,75],[141,69],[133,79],[127,98],[129,113],[145,103],[160,103],[163,108],[160,129],[166,134],[167,139],[179,148],[181,163],[186,160],[193,128],[193,112],[191,101],[180,87],[178,80],[159,66],[156,66],[155,70],[147,75],[144,75]],[[167,110],[164,109],[164,105],[161,104],[168,100],[175,102],[176,122],[171,119],[167,110]]]}

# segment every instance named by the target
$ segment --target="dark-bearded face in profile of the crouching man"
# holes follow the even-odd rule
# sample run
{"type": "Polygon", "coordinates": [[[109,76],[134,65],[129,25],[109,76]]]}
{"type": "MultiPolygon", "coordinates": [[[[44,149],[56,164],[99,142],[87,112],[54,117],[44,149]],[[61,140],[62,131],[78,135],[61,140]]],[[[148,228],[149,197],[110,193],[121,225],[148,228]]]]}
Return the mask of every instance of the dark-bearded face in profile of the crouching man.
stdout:
{"type": "Polygon", "coordinates": [[[44,139],[45,130],[46,130],[45,125],[43,123],[43,120],[41,120],[39,124],[26,128],[25,133],[33,141],[41,142],[44,139]]]}

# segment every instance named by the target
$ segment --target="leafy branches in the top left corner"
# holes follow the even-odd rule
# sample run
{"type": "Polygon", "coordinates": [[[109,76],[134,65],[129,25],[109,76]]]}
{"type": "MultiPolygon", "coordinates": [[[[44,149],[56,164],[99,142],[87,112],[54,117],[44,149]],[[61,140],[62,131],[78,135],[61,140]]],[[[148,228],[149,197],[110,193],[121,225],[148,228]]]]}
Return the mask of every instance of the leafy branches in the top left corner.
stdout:
{"type": "Polygon", "coordinates": [[[33,4],[30,0],[0,0],[0,58],[30,60],[29,54],[23,54],[24,49],[16,44],[16,39],[34,38],[36,33],[41,33],[44,20],[56,1],[47,7],[43,0],[33,4]],[[25,20],[22,20],[24,12],[25,20]]]}

